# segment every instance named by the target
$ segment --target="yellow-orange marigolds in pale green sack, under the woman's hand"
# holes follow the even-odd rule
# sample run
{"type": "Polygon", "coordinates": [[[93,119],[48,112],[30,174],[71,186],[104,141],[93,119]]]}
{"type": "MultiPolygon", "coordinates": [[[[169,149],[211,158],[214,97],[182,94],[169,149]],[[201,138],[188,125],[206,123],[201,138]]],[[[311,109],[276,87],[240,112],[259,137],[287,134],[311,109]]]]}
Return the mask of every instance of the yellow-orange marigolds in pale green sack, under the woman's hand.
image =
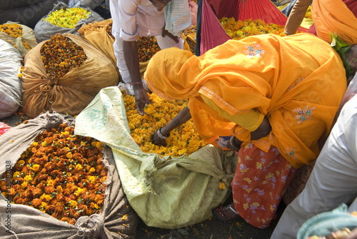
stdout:
{"type": "Polygon", "coordinates": [[[155,93],[149,93],[151,104],[146,107],[148,115],[140,116],[135,108],[134,96],[124,95],[126,116],[129,122],[131,137],[145,153],[156,153],[160,156],[189,155],[198,148],[206,146],[196,130],[193,121],[189,120],[171,131],[166,139],[167,146],[156,146],[151,143],[151,136],[161,127],[166,126],[185,106],[186,101],[169,101],[160,98],[155,93]]]}

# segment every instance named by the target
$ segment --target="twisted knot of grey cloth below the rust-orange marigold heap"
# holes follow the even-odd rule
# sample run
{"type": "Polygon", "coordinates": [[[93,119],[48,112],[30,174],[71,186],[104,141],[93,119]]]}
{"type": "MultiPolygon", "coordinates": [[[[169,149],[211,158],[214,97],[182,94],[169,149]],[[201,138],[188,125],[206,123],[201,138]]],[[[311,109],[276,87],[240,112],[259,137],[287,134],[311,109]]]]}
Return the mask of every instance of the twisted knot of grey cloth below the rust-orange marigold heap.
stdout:
{"type": "Polygon", "coordinates": [[[104,229],[104,217],[101,214],[81,216],[76,221],[77,235],[81,238],[100,238],[104,229]]]}

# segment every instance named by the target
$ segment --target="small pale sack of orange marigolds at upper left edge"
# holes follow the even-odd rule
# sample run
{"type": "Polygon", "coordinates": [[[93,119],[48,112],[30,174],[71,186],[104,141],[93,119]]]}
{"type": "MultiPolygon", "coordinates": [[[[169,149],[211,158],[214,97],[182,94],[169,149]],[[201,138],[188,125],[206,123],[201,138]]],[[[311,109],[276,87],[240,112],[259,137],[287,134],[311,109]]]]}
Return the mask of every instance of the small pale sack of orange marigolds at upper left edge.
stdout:
{"type": "Polygon", "coordinates": [[[25,57],[27,52],[38,44],[34,30],[12,21],[0,25],[0,39],[14,46],[21,57],[25,57]]]}

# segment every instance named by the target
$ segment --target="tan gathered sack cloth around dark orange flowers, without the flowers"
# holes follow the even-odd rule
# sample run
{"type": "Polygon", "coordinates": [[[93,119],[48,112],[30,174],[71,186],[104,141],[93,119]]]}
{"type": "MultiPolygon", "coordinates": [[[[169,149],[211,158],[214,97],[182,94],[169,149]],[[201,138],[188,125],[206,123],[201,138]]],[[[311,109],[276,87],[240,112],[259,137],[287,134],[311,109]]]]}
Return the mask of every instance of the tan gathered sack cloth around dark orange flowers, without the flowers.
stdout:
{"type": "Polygon", "coordinates": [[[46,111],[79,114],[96,94],[108,86],[117,86],[116,66],[102,51],[79,35],[63,34],[84,49],[86,61],[60,79],[47,76],[40,49],[42,41],[26,55],[23,76],[24,113],[35,118],[46,111]]]}

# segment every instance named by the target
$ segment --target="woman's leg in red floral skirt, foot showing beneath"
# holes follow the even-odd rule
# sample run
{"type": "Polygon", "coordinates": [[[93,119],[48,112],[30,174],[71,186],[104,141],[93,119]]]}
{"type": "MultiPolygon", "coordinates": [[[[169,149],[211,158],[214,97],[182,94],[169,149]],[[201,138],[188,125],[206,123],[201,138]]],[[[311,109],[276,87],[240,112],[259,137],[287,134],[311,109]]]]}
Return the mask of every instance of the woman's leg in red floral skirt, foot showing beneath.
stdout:
{"type": "MultiPolygon", "coordinates": [[[[233,206],[238,215],[256,228],[268,227],[295,172],[278,148],[271,146],[264,152],[252,143],[243,146],[238,151],[236,173],[231,183],[233,206]]],[[[223,218],[234,216],[227,207],[215,210],[223,218]]]]}

